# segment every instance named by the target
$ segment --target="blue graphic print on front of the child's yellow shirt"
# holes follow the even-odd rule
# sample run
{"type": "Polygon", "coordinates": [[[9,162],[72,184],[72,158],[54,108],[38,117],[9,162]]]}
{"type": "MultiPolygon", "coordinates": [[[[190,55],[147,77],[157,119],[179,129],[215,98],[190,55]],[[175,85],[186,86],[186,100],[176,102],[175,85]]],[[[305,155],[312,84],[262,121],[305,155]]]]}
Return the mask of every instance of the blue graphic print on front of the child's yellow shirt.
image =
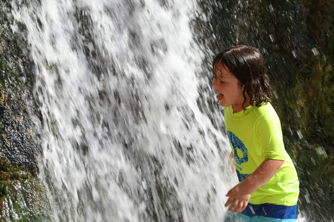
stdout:
{"type": "MultiPolygon", "coordinates": [[[[236,135],[234,135],[233,132],[227,131],[227,137],[228,137],[228,140],[230,141],[230,143],[232,144],[232,147],[233,147],[234,161],[236,163],[236,167],[239,170],[242,170],[241,169],[241,163],[244,163],[244,162],[248,161],[247,148],[246,148],[245,144],[243,144],[243,142],[238,137],[236,137],[236,135]],[[238,153],[237,153],[236,149],[241,150],[242,157],[238,156],[238,153]]],[[[240,173],[239,170],[236,169],[236,174],[238,176],[239,182],[242,182],[247,176],[251,175],[251,174],[242,174],[242,173],[240,173]]]]}

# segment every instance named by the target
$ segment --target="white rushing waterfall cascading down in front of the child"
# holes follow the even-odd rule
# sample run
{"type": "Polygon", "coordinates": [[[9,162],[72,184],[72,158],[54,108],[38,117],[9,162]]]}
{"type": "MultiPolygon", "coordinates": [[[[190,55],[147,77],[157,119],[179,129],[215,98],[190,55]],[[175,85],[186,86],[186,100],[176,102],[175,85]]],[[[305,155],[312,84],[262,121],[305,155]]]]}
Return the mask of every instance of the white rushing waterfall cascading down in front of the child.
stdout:
{"type": "Polygon", "coordinates": [[[195,1],[13,0],[12,13],[35,64],[54,221],[222,219],[237,180],[223,130],[197,106],[214,95],[198,90],[210,83],[195,1]]]}

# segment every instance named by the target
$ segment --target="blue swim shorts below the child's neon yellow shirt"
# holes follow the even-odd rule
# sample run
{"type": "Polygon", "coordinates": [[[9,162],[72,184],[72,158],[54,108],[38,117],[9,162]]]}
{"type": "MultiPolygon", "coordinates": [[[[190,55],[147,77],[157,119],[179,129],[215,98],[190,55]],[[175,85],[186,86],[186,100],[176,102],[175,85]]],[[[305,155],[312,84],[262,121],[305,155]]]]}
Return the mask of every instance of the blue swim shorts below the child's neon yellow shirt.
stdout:
{"type": "Polygon", "coordinates": [[[228,212],[225,221],[296,221],[297,205],[283,206],[277,204],[263,203],[251,204],[248,203],[246,209],[234,214],[228,212]]]}

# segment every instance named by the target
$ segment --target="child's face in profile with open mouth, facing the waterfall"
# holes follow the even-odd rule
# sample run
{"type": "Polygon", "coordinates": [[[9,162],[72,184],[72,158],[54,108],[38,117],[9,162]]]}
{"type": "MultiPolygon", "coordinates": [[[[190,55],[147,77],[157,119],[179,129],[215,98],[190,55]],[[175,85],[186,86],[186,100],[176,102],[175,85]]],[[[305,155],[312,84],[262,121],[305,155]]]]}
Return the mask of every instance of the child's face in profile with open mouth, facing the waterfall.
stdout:
{"type": "MultiPolygon", "coordinates": [[[[215,78],[213,79],[212,86],[214,91],[218,93],[216,96],[220,106],[229,107],[232,105],[233,111],[238,112],[243,110],[243,88],[239,85],[238,79],[236,79],[221,63],[216,65],[215,78]]],[[[247,94],[246,98],[247,98],[247,94]]],[[[246,103],[244,106],[248,106],[246,103]]]]}

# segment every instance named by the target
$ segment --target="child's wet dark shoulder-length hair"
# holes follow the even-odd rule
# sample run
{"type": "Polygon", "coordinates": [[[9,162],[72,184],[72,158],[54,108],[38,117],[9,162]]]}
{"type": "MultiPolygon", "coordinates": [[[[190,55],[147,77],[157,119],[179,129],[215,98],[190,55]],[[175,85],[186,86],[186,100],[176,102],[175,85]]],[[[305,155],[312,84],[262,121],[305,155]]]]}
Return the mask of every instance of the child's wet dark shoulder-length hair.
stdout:
{"type": "Polygon", "coordinates": [[[243,105],[246,103],[245,92],[251,98],[250,104],[260,107],[264,102],[270,102],[272,89],[266,73],[265,60],[260,51],[251,46],[231,46],[220,52],[212,62],[213,75],[221,64],[239,81],[243,88],[243,105]]]}

